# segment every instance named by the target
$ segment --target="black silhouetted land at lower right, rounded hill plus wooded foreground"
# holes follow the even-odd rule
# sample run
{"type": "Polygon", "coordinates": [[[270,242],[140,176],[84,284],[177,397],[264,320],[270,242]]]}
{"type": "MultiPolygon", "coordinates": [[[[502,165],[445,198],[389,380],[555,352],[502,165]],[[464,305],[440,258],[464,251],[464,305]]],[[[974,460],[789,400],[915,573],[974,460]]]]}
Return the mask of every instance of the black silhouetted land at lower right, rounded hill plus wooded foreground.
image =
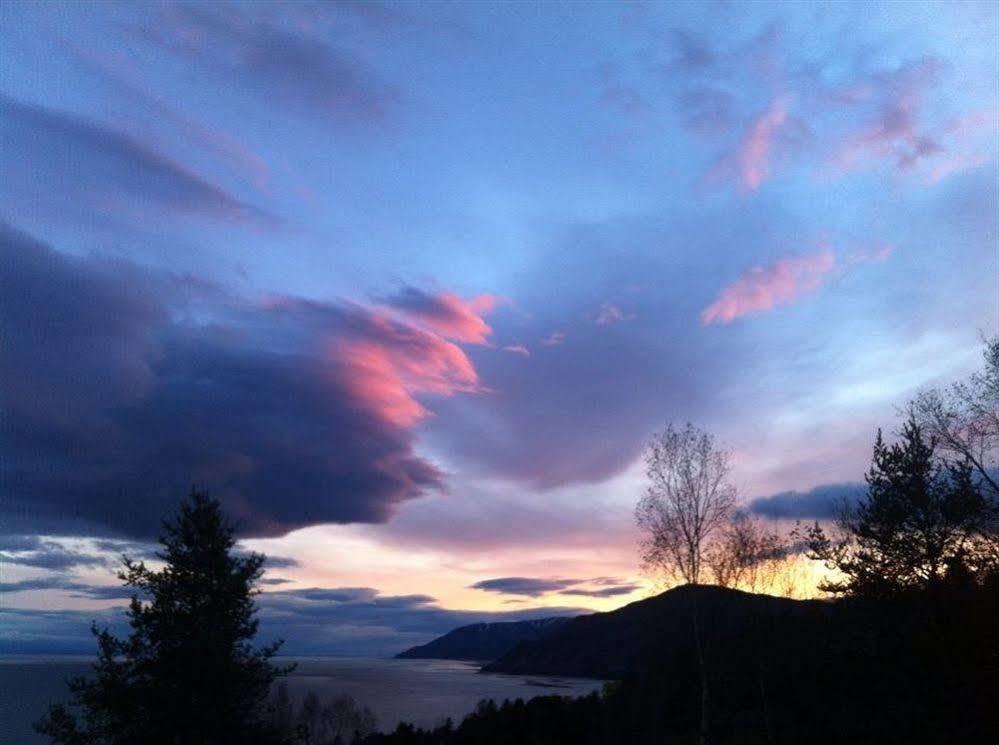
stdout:
{"type": "Polygon", "coordinates": [[[523,641],[488,672],[608,679],[603,693],[482,702],[365,745],[995,742],[999,586],[800,601],[685,586],[523,641]]]}

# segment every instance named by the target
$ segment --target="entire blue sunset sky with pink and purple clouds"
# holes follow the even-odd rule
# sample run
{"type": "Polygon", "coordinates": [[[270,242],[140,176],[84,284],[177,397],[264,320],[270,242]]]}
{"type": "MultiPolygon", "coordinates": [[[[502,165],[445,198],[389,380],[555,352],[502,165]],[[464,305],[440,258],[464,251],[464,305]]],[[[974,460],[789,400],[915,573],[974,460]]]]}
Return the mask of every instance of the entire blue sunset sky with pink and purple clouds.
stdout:
{"type": "Polygon", "coordinates": [[[0,4],[0,652],[191,485],[261,634],[646,596],[642,451],[828,517],[999,331],[995,3],[0,4]]]}

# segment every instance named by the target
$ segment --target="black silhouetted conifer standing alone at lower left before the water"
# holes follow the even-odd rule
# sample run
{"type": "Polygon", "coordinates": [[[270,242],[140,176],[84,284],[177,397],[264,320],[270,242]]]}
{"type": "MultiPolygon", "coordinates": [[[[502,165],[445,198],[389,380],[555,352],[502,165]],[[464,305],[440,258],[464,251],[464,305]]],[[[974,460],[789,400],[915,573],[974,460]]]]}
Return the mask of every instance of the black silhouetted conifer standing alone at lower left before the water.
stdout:
{"type": "Polygon", "coordinates": [[[136,590],[128,638],[93,629],[93,677],[69,681],[71,705],[53,706],[37,730],[74,745],[275,741],[266,698],[290,668],[270,661],[280,642],[251,646],[264,557],[234,554],[221,506],[193,490],[160,544],[158,571],[123,559],[119,578],[136,590]]]}

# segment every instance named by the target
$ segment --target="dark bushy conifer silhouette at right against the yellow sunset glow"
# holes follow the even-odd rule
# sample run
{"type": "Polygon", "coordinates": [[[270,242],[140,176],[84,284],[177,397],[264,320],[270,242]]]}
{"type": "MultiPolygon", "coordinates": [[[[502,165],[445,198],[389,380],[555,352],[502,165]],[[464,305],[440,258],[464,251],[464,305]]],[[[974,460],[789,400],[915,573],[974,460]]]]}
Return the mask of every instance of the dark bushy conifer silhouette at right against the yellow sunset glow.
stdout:
{"type": "MultiPolygon", "coordinates": [[[[914,417],[901,441],[888,445],[878,432],[867,497],[843,507],[833,541],[816,523],[807,531],[811,557],[825,561],[842,579],[823,590],[867,597],[895,597],[924,590],[948,574],[976,575],[982,548],[994,540],[992,509],[968,461],[936,456],[914,417]]],[[[988,551],[985,555],[988,555],[988,551]]]]}

